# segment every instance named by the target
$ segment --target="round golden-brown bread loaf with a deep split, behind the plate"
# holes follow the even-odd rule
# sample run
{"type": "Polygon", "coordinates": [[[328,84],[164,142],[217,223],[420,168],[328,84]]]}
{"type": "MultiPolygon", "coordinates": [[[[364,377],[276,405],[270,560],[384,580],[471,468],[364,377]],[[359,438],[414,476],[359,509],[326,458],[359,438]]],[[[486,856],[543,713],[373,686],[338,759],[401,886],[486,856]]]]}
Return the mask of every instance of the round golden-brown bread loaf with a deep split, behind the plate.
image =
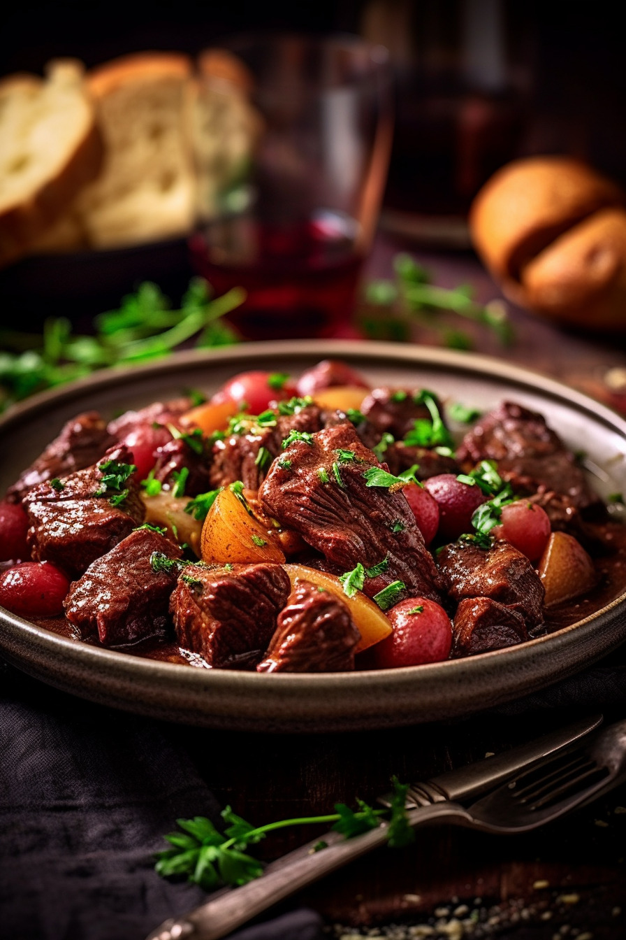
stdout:
{"type": "Polygon", "coordinates": [[[626,330],[626,195],[570,157],[517,160],[470,212],[474,246],[502,290],[551,319],[626,330]]]}

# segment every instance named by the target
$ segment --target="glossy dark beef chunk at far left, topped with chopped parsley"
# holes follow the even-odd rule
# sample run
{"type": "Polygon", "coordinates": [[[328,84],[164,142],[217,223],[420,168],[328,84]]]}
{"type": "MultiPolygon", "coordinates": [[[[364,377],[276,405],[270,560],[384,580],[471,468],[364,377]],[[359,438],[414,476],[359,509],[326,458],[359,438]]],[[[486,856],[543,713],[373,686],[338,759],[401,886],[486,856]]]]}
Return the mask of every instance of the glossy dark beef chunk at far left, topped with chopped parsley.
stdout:
{"type": "Polygon", "coordinates": [[[130,462],[129,449],[110,448],[95,466],[60,478],[59,489],[46,482],[26,493],[28,542],[36,561],[53,561],[70,577],[80,577],[92,561],[110,552],[144,521],[144,504],[133,479],[124,483],[129,494],[119,506],[111,503],[115,493],[96,495],[103,487],[99,467],[108,461],[130,462]]]}

